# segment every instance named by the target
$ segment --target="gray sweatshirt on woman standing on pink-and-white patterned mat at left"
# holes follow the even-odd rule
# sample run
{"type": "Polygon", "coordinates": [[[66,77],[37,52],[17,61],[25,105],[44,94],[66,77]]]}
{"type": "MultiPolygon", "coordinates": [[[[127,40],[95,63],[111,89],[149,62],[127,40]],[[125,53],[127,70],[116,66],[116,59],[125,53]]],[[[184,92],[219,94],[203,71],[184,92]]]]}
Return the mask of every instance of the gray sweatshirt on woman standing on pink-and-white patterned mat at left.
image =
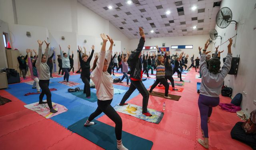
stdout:
{"type": "MultiPolygon", "coordinates": [[[[49,55],[49,48],[46,48],[44,51],[44,55],[46,56],[46,62],[49,55]]],[[[38,57],[36,60],[36,69],[39,73],[39,80],[50,80],[50,68],[46,63],[41,62],[42,60],[42,46],[38,48],[38,57]]]]}

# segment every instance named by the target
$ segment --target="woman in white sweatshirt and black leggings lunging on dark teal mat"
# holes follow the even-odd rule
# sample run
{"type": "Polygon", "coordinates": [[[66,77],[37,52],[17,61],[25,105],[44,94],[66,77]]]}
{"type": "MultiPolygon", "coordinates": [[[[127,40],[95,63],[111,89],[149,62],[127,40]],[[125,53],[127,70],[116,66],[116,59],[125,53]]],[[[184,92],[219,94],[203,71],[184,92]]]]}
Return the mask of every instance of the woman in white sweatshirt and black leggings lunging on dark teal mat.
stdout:
{"type": "Polygon", "coordinates": [[[113,78],[107,72],[107,70],[112,55],[114,41],[109,36],[105,36],[105,34],[100,34],[100,36],[103,40],[100,55],[99,58],[94,60],[92,67],[93,71],[90,75],[90,78],[94,82],[97,90],[96,95],[98,98],[98,107],[95,112],[89,116],[84,126],[93,125],[94,122],[91,121],[104,112],[104,114],[106,114],[116,124],[115,133],[118,150],[128,150],[122,144],[122,119],[116,110],[114,110],[114,108],[110,105],[114,96],[114,88],[113,78]],[[108,52],[106,52],[106,42],[108,40],[110,41],[110,47],[108,52]]]}

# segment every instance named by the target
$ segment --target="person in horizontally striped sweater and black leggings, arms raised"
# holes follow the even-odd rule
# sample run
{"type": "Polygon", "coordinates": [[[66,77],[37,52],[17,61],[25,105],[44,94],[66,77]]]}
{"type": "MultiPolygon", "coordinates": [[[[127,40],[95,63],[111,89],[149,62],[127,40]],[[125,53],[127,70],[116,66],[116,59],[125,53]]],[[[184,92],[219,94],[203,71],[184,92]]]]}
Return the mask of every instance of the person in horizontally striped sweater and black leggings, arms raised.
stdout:
{"type": "Polygon", "coordinates": [[[163,84],[165,87],[164,97],[171,98],[170,96],[168,96],[169,84],[168,84],[167,80],[164,78],[164,76],[165,76],[164,56],[161,55],[161,53],[158,49],[158,46],[156,46],[156,49],[158,52],[158,55],[157,55],[158,58],[156,60],[156,81],[151,86],[149,92],[151,93],[152,90],[158,85],[158,83],[161,82],[161,84],[163,84]]]}

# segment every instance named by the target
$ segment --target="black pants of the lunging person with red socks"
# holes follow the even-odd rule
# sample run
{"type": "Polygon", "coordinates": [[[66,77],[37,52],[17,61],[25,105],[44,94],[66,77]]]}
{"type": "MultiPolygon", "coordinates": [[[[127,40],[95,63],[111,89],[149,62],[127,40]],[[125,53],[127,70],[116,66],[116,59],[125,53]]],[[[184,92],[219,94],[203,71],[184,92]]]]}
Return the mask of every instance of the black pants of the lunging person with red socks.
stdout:
{"type": "Polygon", "coordinates": [[[124,102],[130,97],[130,95],[134,92],[134,90],[138,90],[140,94],[143,96],[142,100],[142,112],[147,113],[148,112],[148,98],[149,94],[147,89],[145,88],[142,81],[133,81],[131,80],[131,85],[129,87],[129,90],[124,94],[124,97],[122,98],[120,104],[124,104],[124,102]]]}

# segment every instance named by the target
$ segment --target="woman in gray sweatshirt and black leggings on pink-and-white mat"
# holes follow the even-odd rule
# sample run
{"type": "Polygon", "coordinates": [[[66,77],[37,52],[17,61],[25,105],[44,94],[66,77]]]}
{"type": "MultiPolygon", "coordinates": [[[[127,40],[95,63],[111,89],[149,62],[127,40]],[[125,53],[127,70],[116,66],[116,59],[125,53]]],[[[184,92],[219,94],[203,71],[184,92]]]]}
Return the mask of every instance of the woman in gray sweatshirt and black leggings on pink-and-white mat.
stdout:
{"type": "Polygon", "coordinates": [[[46,104],[47,103],[49,108],[50,108],[50,112],[56,113],[58,111],[56,111],[52,107],[52,94],[51,94],[51,91],[49,89],[50,68],[46,63],[47,59],[48,59],[48,55],[49,55],[49,44],[50,43],[46,43],[44,41],[46,43],[46,49],[44,51],[44,54],[42,54],[42,44],[44,42],[41,42],[40,40],[37,40],[37,42],[39,44],[39,48],[38,48],[38,57],[37,57],[37,60],[36,60],[36,69],[38,70],[38,73],[39,73],[39,86],[42,89],[42,92],[39,96],[39,104],[46,104]],[[46,95],[47,102],[43,101],[44,94],[46,95]]]}

